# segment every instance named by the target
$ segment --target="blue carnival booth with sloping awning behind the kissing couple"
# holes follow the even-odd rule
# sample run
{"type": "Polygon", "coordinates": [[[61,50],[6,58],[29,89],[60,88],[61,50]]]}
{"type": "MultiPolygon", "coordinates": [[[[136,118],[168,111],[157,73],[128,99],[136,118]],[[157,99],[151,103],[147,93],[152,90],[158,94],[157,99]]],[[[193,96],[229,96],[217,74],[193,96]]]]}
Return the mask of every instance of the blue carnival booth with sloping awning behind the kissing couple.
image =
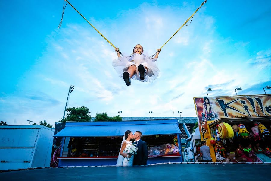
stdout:
{"type": "Polygon", "coordinates": [[[148,144],[147,164],[182,162],[177,119],[66,122],[55,137],[63,138],[58,166],[116,165],[126,130],[142,132],[148,144]]]}

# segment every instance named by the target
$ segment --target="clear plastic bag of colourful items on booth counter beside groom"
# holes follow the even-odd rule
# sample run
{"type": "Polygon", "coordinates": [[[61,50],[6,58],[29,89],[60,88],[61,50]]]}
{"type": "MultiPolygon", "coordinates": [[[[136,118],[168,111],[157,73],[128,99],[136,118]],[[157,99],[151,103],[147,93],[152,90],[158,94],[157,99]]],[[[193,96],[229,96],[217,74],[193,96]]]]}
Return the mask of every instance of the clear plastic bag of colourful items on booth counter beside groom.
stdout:
{"type": "Polygon", "coordinates": [[[158,157],[162,155],[179,154],[179,152],[180,149],[177,146],[168,143],[160,146],[151,147],[150,150],[148,150],[148,156],[158,157]]]}

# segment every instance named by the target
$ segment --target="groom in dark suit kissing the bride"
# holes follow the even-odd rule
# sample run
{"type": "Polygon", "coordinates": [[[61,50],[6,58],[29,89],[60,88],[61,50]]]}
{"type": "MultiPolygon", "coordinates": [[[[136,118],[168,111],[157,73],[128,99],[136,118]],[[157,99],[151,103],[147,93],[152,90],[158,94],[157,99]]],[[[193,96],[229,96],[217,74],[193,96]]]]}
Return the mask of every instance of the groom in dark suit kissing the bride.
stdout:
{"type": "Polygon", "coordinates": [[[137,147],[133,165],[147,165],[148,159],[147,143],[140,139],[141,136],[142,132],[140,131],[136,131],[135,134],[133,135],[133,139],[135,140],[135,142],[133,142],[133,145],[137,147]]]}

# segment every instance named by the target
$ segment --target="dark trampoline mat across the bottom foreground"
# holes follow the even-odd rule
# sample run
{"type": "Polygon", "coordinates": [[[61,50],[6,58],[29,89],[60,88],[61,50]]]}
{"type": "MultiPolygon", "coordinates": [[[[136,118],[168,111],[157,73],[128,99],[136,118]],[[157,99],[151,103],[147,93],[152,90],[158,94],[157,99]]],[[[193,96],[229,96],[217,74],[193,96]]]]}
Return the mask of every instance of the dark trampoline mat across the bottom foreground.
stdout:
{"type": "Polygon", "coordinates": [[[0,173],[1,180],[251,180],[270,179],[271,165],[160,164],[139,167],[44,168],[0,173]]]}

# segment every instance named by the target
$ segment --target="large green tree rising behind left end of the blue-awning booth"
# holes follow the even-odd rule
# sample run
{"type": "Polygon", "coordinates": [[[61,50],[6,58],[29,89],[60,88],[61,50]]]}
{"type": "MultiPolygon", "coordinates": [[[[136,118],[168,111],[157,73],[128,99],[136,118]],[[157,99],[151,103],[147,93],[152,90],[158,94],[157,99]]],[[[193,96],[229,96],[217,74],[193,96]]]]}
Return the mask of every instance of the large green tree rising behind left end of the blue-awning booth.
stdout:
{"type": "Polygon", "coordinates": [[[89,108],[85,107],[85,106],[82,106],[82,107],[70,107],[70,108],[67,108],[66,111],[68,112],[67,113],[67,116],[66,118],[64,119],[61,119],[60,121],[58,122],[66,122],[66,121],[78,121],[78,116],[80,116],[80,122],[89,122],[91,120],[91,116],[89,115],[89,108]]]}

